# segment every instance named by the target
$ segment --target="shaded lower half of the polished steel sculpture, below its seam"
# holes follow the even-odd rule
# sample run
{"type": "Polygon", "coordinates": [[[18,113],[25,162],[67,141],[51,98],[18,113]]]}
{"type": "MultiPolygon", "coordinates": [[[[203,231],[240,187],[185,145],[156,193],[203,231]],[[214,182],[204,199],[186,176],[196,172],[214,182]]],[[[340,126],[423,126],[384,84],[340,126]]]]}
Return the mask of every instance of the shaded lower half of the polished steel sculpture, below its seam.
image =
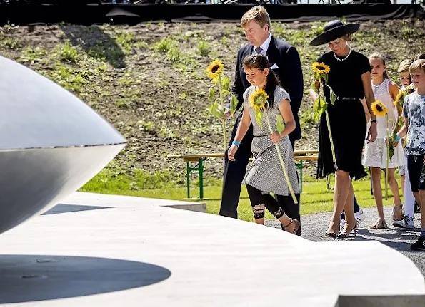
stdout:
{"type": "Polygon", "coordinates": [[[0,152],[0,233],[82,187],[121,145],[0,152]]]}

